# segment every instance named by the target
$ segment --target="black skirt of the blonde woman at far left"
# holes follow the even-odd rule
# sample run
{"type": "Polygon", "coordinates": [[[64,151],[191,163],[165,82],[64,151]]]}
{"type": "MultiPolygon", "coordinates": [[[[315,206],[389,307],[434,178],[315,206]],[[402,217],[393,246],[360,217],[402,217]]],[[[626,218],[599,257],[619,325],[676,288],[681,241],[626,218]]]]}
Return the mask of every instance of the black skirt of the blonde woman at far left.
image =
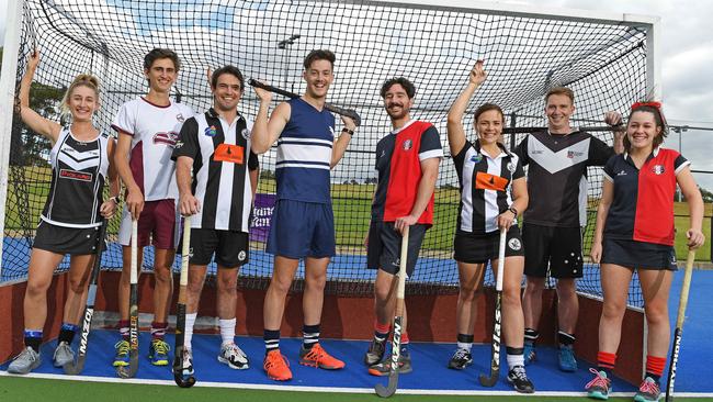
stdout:
{"type": "Polygon", "coordinates": [[[97,254],[98,227],[65,227],[39,221],[33,248],[56,254],[97,254]]]}

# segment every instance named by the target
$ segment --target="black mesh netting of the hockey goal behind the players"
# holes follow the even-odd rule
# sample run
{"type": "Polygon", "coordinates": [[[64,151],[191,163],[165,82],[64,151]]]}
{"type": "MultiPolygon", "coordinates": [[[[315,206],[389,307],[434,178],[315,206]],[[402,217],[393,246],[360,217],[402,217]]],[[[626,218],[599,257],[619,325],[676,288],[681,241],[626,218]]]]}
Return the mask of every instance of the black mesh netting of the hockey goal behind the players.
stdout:
{"type": "MultiPolygon", "coordinates": [[[[391,130],[378,97],[385,79],[405,76],[416,83],[411,114],[439,129],[444,149],[445,114],[476,59],[486,60],[488,79],[468,112],[483,102],[495,102],[506,110],[512,124],[520,126],[546,124],[543,96],[554,86],[574,89],[574,125],[597,124],[604,111],[625,111],[646,92],[646,31],[624,24],[360,1],[33,0],[25,3],[22,30],[18,80],[34,46],[41,51],[42,62],[33,97],[38,96],[38,89],[56,90],[77,74],[91,71],[101,80],[102,108],[95,123],[104,131],[110,131],[110,122],[123,102],[146,92],[142,62],[154,47],[179,54],[182,69],[174,96],[196,111],[211,104],[206,67],[234,64],[246,77],[299,93],[304,90],[303,57],[314,48],[333,51],[336,80],[328,100],[355,109],[363,121],[347,155],[332,170],[338,257],[329,268],[328,291],[339,293],[369,293],[374,275],[364,269],[362,244],[375,178],[373,152],[378,138],[391,130]],[[299,37],[279,47],[293,35],[299,37]]],[[[274,98],[275,102],[281,100],[274,98]]],[[[239,109],[254,116],[257,107],[248,89],[239,109]]],[[[48,108],[47,115],[53,114],[48,108]]],[[[472,119],[466,118],[464,124],[473,138],[472,119]]],[[[16,116],[13,127],[3,279],[26,273],[29,245],[49,179],[47,147],[29,149],[29,138],[34,134],[26,132],[16,116]],[[33,158],[35,154],[41,157],[33,158]]],[[[507,136],[506,143],[519,142],[523,135],[507,136]]],[[[611,133],[597,135],[611,143],[611,133]]],[[[274,149],[261,157],[258,226],[269,221],[274,161],[274,149]]],[[[589,174],[589,221],[593,224],[601,172],[590,169],[589,174]]],[[[457,289],[452,260],[457,202],[457,178],[446,157],[435,194],[435,225],[427,234],[411,292],[457,289]]],[[[591,226],[585,239],[587,249],[591,226]]],[[[110,241],[115,241],[117,227],[114,220],[110,241]]],[[[241,269],[242,287],[267,284],[272,258],[264,253],[263,239],[264,227],[258,227],[252,236],[251,263],[241,269]]],[[[148,269],[152,264],[150,250],[146,256],[148,269]]],[[[117,269],[121,264],[118,247],[114,246],[105,255],[104,266],[117,269]]],[[[491,282],[491,277],[486,280],[491,282]]],[[[588,267],[579,287],[593,294],[600,292],[597,267],[588,267]]],[[[641,295],[634,293],[630,302],[641,304],[641,295]]]]}

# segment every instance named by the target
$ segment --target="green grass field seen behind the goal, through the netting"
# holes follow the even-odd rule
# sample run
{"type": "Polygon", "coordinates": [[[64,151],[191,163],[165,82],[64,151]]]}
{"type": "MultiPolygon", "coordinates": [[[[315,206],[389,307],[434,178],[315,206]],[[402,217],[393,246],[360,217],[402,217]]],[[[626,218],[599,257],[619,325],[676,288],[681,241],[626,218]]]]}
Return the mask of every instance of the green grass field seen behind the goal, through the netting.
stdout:
{"type": "MultiPolygon", "coordinates": [[[[8,191],[8,209],[5,210],[5,230],[18,231],[36,226],[39,213],[44,206],[47,192],[49,191],[50,171],[48,168],[29,167],[15,168],[11,171],[8,191]],[[12,180],[24,175],[26,187],[23,189],[12,180]],[[23,194],[27,194],[24,197],[23,194]],[[30,211],[29,214],[20,211],[30,211]],[[22,219],[21,219],[22,217],[22,219]]],[[[275,182],[272,178],[262,178],[258,192],[274,193],[275,182]]],[[[371,200],[374,185],[332,185],[331,194],[337,225],[336,236],[338,246],[360,247],[369,228],[371,213],[371,200]]],[[[459,190],[454,188],[441,188],[435,192],[434,227],[427,232],[423,241],[423,249],[450,250],[453,244],[455,222],[457,217],[459,190]]],[[[686,231],[689,228],[688,204],[677,202],[674,205],[676,215],[676,253],[679,259],[684,259],[688,254],[686,246],[686,231]]],[[[703,220],[703,233],[706,239],[711,239],[711,215],[713,204],[705,205],[703,220]]],[[[596,219],[596,201],[590,201],[589,225],[585,233],[585,256],[589,254],[593,222],[596,219]]],[[[110,232],[118,228],[114,220],[110,232]]],[[[711,247],[706,243],[698,253],[697,260],[711,261],[711,247]]]]}

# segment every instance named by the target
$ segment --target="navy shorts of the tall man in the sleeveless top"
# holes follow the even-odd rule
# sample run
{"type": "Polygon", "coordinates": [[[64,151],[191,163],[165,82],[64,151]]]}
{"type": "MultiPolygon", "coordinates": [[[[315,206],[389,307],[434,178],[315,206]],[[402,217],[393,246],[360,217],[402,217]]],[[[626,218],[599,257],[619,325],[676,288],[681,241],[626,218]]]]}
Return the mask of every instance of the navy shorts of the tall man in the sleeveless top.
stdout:
{"type": "Polygon", "coordinates": [[[331,204],[278,200],[267,252],[286,258],[325,258],[337,254],[331,204]]]}

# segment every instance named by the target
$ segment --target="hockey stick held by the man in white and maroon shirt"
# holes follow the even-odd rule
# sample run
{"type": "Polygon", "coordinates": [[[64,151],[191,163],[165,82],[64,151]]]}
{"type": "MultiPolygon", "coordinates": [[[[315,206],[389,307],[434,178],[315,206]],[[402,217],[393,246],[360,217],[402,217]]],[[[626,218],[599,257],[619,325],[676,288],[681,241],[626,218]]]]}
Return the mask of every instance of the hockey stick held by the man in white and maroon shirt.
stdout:
{"type": "Polygon", "coordinates": [[[121,378],[133,378],[138,370],[138,220],[132,220],[132,272],[129,276],[128,298],[128,369],[117,367],[121,378]]]}

